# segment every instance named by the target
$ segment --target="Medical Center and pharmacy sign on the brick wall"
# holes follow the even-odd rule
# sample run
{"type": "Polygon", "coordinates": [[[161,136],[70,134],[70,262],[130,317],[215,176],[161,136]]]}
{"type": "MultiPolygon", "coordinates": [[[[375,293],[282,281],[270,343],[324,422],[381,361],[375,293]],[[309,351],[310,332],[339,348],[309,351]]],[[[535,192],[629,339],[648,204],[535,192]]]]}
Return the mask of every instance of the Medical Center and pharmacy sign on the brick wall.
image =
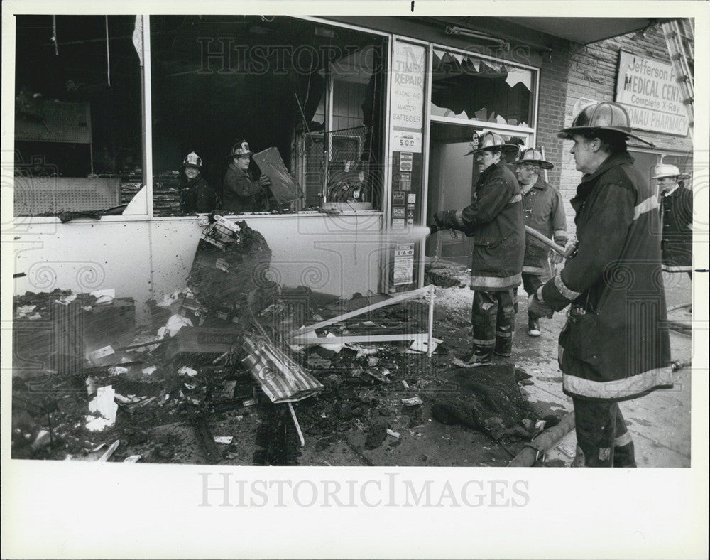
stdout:
{"type": "Polygon", "coordinates": [[[670,64],[619,51],[615,100],[628,111],[633,129],[688,134],[688,114],[670,64]]]}

